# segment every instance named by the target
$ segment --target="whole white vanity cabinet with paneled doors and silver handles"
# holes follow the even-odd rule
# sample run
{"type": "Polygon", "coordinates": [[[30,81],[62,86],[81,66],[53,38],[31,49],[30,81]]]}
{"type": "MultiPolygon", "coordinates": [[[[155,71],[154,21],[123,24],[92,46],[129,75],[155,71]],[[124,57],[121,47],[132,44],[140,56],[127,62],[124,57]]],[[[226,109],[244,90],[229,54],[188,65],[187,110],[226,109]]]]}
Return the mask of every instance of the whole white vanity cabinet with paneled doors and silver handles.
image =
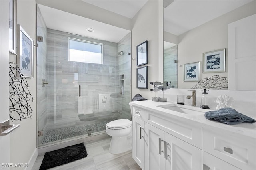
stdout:
{"type": "MultiPolygon", "coordinates": [[[[132,158],[143,170],[256,170],[256,127],[132,106],[132,158]]],[[[182,113],[180,113],[182,114],[182,113]]]]}

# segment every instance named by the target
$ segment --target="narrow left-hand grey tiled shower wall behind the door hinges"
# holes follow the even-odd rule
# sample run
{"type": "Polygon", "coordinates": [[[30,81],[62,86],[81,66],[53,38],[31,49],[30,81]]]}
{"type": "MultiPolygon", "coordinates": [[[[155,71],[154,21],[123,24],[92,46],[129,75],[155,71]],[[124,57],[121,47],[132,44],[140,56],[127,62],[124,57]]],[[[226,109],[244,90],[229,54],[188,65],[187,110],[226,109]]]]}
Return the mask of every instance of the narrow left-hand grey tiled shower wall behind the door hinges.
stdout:
{"type": "MultiPolygon", "coordinates": [[[[37,23],[38,23],[38,36],[42,36],[44,41],[38,42],[37,48],[37,113],[38,113],[38,130],[47,131],[47,91],[46,87],[42,87],[42,79],[46,79],[46,65],[47,65],[47,28],[42,18],[42,14],[40,9],[38,8],[37,15],[37,23]]],[[[45,135],[46,133],[44,133],[45,135]]],[[[41,143],[44,136],[38,138],[38,142],[41,143]]]]}

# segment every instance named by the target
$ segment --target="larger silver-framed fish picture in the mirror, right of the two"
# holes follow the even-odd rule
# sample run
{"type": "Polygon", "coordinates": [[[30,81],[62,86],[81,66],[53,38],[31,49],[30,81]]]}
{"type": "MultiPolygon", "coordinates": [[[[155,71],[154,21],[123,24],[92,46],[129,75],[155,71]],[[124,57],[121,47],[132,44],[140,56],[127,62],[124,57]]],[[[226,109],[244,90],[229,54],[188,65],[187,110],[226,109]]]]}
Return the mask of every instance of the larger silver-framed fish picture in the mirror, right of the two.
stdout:
{"type": "Polygon", "coordinates": [[[225,72],[226,49],[203,53],[203,73],[225,72]]]}

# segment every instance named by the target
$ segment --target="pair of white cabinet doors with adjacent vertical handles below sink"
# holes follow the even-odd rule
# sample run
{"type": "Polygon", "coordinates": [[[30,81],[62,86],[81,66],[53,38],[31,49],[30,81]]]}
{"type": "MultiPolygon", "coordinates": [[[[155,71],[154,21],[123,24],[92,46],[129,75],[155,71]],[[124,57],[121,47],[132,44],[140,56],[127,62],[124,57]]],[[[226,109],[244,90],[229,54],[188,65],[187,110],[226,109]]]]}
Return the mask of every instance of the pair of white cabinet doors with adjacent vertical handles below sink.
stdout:
{"type": "Polygon", "coordinates": [[[145,123],[145,170],[200,170],[202,150],[145,123]]]}

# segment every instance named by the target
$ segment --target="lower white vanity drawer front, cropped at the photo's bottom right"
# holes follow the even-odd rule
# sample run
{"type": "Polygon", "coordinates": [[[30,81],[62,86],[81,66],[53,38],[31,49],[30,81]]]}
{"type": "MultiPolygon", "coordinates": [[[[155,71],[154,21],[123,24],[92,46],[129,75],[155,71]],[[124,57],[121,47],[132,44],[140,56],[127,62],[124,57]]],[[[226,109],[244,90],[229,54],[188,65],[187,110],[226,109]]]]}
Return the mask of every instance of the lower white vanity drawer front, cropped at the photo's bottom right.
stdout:
{"type": "Polygon", "coordinates": [[[240,170],[211,154],[203,151],[203,170],[240,170]]]}

